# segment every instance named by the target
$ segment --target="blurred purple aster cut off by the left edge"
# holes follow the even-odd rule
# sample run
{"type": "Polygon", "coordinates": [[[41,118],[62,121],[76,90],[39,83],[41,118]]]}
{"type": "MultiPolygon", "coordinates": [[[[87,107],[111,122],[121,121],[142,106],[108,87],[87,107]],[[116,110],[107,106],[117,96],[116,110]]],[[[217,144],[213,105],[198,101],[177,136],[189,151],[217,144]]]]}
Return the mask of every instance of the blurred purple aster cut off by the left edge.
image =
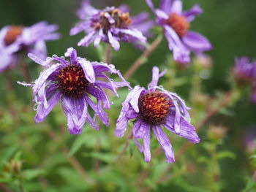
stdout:
{"type": "Polygon", "coordinates": [[[33,53],[41,59],[47,56],[45,41],[59,39],[56,25],[42,21],[30,27],[5,26],[0,31],[0,72],[20,61],[21,52],[33,53]]]}

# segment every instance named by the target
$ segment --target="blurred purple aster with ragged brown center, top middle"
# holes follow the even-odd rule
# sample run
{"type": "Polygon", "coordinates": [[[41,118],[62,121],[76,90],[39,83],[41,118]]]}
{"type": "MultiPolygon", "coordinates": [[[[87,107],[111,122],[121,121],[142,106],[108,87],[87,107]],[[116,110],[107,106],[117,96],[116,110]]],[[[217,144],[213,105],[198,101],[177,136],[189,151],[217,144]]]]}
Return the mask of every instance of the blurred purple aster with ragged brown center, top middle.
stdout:
{"type": "Polygon", "coordinates": [[[115,49],[120,49],[119,42],[146,42],[144,34],[154,25],[148,20],[146,12],[137,17],[129,17],[129,8],[125,5],[120,7],[106,7],[99,10],[91,6],[90,1],[83,1],[82,8],[78,10],[80,22],[71,29],[70,35],[81,31],[86,32],[86,37],[78,42],[78,46],[89,46],[94,42],[94,47],[99,42],[107,42],[115,49]]]}

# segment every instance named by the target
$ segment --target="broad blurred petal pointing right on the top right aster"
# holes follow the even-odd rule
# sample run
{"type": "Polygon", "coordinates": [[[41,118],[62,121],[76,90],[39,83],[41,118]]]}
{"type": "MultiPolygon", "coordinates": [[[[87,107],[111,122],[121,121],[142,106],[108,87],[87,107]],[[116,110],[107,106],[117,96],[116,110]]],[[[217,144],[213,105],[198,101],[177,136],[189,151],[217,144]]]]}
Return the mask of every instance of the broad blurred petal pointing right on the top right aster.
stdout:
{"type": "Polygon", "coordinates": [[[182,38],[185,45],[190,47],[193,51],[205,51],[211,50],[211,43],[202,35],[188,31],[187,34],[182,38]]]}

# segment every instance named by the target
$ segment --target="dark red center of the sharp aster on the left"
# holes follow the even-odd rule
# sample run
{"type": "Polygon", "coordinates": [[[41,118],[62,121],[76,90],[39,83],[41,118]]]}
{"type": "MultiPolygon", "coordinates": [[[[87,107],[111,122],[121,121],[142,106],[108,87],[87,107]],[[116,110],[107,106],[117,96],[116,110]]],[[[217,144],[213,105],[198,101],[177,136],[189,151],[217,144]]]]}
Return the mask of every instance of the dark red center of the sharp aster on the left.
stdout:
{"type": "Polygon", "coordinates": [[[83,68],[77,65],[65,66],[59,71],[59,89],[65,96],[80,97],[86,92],[89,81],[83,68]]]}

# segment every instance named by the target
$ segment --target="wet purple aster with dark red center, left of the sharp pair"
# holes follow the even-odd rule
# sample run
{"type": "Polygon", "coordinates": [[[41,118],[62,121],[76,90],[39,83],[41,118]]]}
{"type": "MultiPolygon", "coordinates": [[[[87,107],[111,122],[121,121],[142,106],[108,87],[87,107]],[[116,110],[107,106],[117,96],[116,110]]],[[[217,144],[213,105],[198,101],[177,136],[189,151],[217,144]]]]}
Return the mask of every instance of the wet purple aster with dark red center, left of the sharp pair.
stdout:
{"type": "Polygon", "coordinates": [[[46,68],[33,84],[19,82],[21,85],[33,87],[37,106],[35,122],[40,123],[45,120],[53,107],[61,101],[61,106],[67,115],[70,134],[81,134],[86,121],[92,127],[99,129],[95,123],[97,116],[109,126],[108,115],[103,107],[109,110],[110,101],[103,88],[113,91],[118,96],[116,88],[129,86],[129,82],[124,80],[115,66],[87,61],[78,57],[73,48],[69,48],[65,56],[69,57],[70,61],[56,55],[42,61],[29,53],[32,60],[46,68]],[[105,72],[118,74],[122,81],[114,82],[105,72]],[[88,112],[89,107],[95,112],[93,118],[88,112]]]}

